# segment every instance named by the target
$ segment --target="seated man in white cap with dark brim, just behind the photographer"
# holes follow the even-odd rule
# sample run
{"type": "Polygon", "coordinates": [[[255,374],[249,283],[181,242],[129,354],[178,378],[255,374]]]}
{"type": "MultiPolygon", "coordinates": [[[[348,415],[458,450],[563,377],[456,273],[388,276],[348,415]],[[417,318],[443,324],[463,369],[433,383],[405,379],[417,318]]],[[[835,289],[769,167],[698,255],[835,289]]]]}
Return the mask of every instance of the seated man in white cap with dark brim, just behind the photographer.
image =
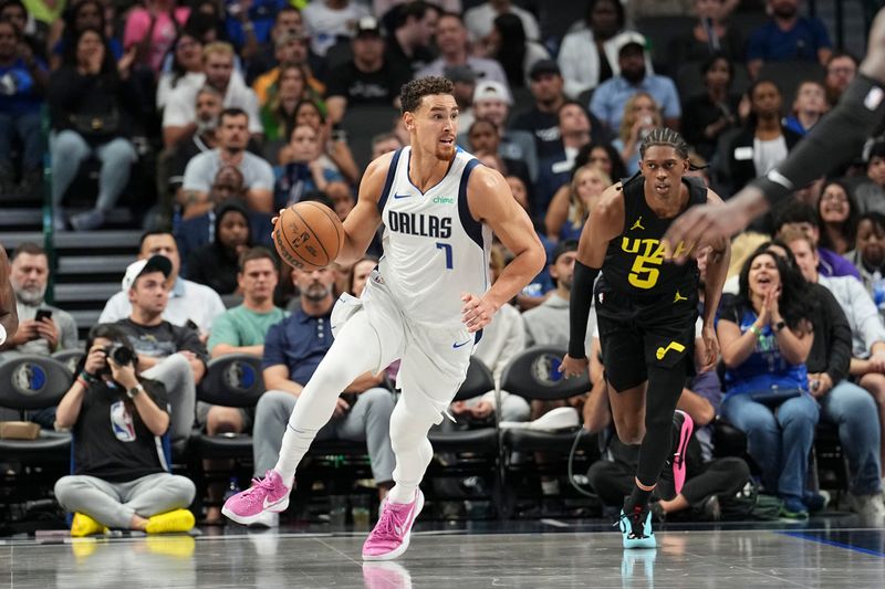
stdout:
{"type": "Polygon", "coordinates": [[[190,434],[196,386],[206,374],[209,355],[195,329],[163,319],[169,302],[166,281],[171,272],[173,263],[165,255],[129,264],[123,276],[123,291],[132,304],[132,314],[116,325],[137,355],[136,372],[166,387],[171,404],[169,435],[175,443],[190,434]]]}

